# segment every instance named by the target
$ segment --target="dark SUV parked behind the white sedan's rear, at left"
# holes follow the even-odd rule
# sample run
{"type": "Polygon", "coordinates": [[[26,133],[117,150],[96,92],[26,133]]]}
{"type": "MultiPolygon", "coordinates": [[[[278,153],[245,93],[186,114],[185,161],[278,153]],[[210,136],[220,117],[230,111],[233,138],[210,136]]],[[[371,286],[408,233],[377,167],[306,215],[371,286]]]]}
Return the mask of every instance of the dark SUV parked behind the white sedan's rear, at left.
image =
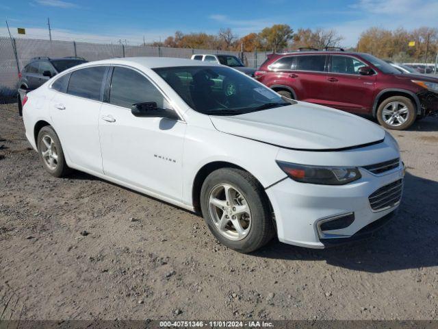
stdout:
{"type": "Polygon", "coordinates": [[[57,73],[86,62],[84,58],[79,57],[32,58],[18,75],[18,87],[25,90],[34,90],[57,75],[57,73]]]}

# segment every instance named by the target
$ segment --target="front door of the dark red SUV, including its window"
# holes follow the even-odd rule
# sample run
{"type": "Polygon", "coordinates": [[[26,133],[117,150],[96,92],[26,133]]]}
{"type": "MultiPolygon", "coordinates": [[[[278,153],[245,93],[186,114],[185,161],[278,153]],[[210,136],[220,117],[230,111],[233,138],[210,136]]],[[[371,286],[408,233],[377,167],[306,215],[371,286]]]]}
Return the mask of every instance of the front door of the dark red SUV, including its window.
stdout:
{"type": "Polygon", "coordinates": [[[359,58],[331,55],[327,82],[330,104],[348,112],[369,113],[374,102],[376,74],[361,75],[359,68],[368,66],[359,58]]]}

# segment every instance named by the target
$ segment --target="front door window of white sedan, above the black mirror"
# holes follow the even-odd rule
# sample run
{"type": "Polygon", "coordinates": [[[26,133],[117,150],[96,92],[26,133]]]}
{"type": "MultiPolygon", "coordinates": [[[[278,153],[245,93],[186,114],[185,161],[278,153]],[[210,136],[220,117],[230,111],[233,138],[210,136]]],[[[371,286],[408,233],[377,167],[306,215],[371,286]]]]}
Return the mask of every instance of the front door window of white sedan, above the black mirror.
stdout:
{"type": "Polygon", "coordinates": [[[169,108],[163,94],[140,73],[116,66],[112,74],[110,103],[131,108],[133,104],[155,101],[159,108],[169,108]]]}

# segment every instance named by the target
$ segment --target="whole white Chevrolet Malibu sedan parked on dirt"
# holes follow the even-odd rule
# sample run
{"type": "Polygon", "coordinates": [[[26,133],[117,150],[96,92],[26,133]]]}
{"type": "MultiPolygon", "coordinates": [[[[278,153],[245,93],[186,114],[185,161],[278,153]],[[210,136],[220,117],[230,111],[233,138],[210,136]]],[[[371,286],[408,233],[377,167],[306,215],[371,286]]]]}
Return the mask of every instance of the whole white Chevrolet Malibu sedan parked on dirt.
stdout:
{"type": "Polygon", "coordinates": [[[312,248],[356,240],[402,198],[404,168],[385,130],[227,66],[90,62],[23,103],[27,139],[51,175],[77,169],[199,212],[239,252],[274,235],[312,248]]]}

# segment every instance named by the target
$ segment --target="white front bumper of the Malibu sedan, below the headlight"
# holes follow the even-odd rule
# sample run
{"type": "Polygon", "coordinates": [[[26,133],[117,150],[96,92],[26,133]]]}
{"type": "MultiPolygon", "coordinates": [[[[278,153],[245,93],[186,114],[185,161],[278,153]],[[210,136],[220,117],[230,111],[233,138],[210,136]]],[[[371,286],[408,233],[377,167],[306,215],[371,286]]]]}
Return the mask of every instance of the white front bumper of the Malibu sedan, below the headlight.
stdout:
{"type": "Polygon", "coordinates": [[[381,175],[362,168],[359,170],[362,178],[346,185],[303,184],[286,178],[266,189],[274,208],[279,240],[302,247],[324,248],[363,238],[370,231],[365,228],[374,226],[370,224],[394,215],[399,203],[376,211],[372,210],[368,197],[378,188],[403,178],[402,162],[381,175]],[[320,221],[351,212],[355,220],[350,226],[322,234],[318,227],[320,221]]]}

